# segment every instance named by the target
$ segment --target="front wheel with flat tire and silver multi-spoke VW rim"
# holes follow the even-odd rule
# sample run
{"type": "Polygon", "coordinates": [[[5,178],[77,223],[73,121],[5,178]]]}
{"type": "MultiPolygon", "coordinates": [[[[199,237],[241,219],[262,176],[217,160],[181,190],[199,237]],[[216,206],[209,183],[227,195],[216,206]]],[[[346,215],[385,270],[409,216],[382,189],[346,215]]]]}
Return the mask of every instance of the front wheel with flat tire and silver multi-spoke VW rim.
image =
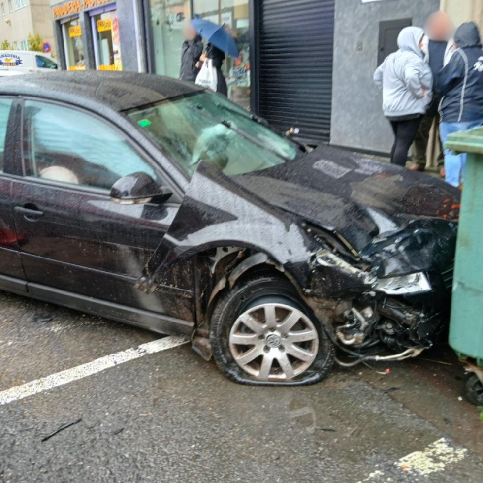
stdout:
{"type": "Polygon", "coordinates": [[[227,377],[244,384],[295,386],[322,380],[334,346],[290,281],[258,275],[218,301],[210,339],[227,377]]]}

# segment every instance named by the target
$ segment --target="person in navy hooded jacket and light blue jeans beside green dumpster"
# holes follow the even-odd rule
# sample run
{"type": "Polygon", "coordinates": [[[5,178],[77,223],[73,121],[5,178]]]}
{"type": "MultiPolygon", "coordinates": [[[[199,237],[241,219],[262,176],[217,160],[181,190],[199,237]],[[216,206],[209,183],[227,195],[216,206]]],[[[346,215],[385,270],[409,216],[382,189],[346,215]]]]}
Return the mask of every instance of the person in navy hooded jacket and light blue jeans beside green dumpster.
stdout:
{"type": "MultiPolygon", "coordinates": [[[[451,132],[483,125],[483,51],[478,27],[462,24],[454,35],[456,50],[435,79],[440,104],[443,144],[451,132]]],[[[445,150],[446,182],[459,186],[464,180],[466,154],[445,150]]]]}

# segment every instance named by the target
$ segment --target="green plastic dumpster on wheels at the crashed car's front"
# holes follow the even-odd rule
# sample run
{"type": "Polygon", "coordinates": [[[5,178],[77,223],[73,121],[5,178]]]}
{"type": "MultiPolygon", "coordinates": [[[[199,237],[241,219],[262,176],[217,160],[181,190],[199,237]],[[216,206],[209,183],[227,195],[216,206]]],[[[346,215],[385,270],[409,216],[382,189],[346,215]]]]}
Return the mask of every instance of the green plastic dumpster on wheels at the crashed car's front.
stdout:
{"type": "Polygon", "coordinates": [[[445,148],[468,153],[454,263],[450,345],[472,372],[470,402],[483,406],[483,127],[455,132],[445,148]]]}

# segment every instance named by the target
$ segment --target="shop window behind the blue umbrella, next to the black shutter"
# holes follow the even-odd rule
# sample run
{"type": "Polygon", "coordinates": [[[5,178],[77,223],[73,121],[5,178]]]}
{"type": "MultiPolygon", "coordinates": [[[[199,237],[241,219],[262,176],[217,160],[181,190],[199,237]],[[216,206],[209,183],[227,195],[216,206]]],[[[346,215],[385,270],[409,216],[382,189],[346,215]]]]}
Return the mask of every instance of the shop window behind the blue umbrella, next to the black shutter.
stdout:
{"type": "Polygon", "coordinates": [[[228,86],[228,98],[250,107],[250,39],[248,0],[193,0],[194,15],[223,25],[235,39],[239,57],[226,56],[223,73],[228,86]]]}

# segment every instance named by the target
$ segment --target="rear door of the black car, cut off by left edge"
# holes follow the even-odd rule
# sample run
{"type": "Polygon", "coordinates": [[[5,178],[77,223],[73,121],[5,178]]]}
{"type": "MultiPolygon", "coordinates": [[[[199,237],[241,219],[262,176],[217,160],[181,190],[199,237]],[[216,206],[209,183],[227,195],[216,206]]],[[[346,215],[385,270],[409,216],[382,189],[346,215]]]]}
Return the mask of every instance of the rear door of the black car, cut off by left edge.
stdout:
{"type": "Polygon", "coordinates": [[[19,256],[11,198],[15,129],[20,126],[20,117],[16,118],[13,104],[13,98],[0,97],[0,288],[24,293],[27,291],[25,273],[19,256]]]}

